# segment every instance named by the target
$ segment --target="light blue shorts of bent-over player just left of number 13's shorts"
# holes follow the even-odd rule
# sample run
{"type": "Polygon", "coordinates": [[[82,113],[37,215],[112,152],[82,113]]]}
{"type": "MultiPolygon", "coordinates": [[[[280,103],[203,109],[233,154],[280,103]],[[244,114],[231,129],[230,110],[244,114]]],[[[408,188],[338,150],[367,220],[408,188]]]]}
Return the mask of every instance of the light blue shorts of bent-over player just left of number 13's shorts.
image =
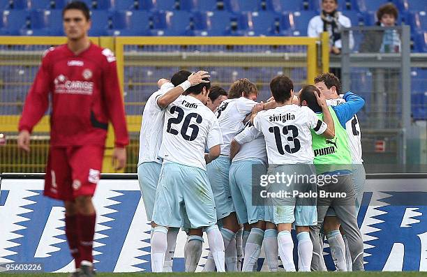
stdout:
{"type": "Polygon", "coordinates": [[[253,191],[259,186],[260,175],[267,173],[261,160],[239,160],[230,166],[230,191],[237,219],[240,224],[257,223],[264,220],[264,205],[254,206],[253,191]],[[254,188],[254,190],[253,190],[254,188]]]}

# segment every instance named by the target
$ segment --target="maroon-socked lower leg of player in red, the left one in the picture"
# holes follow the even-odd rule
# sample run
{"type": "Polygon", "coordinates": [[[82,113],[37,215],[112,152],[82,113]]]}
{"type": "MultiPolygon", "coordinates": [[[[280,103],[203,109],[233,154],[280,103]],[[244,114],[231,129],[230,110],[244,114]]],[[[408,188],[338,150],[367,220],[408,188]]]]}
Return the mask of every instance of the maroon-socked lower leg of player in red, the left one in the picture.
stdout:
{"type": "Polygon", "coordinates": [[[79,253],[79,235],[77,232],[77,208],[75,202],[73,201],[64,201],[64,207],[66,209],[65,213],[65,223],[66,223],[66,237],[68,241],[68,246],[70,247],[70,254],[74,258],[75,269],[76,271],[71,274],[71,276],[80,275],[80,253],[79,253]]]}

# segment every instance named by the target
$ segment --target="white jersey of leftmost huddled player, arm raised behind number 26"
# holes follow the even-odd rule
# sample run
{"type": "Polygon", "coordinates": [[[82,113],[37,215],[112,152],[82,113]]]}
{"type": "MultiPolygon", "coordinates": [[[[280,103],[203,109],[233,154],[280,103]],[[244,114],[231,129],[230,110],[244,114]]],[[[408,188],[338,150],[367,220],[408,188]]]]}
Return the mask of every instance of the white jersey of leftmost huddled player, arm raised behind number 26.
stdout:
{"type": "Polygon", "coordinates": [[[156,102],[160,96],[163,96],[173,88],[174,85],[171,82],[163,84],[158,91],[151,94],[147,103],[145,103],[144,112],[142,113],[138,165],[145,162],[162,163],[162,159],[158,156],[158,151],[162,143],[165,111],[161,110],[156,102]]]}

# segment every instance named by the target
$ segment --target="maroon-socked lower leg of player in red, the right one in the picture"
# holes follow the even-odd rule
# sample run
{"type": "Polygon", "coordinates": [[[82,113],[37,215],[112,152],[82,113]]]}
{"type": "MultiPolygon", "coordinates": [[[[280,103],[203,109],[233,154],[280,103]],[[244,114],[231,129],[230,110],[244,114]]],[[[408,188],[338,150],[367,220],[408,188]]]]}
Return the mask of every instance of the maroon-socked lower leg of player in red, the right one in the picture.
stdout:
{"type": "Polygon", "coordinates": [[[96,211],[91,196],[75,198],[77,208],[77,232],[79,237],[80,269],[84,276],[93,276],[93,236],[95,234],[96,211]]]}

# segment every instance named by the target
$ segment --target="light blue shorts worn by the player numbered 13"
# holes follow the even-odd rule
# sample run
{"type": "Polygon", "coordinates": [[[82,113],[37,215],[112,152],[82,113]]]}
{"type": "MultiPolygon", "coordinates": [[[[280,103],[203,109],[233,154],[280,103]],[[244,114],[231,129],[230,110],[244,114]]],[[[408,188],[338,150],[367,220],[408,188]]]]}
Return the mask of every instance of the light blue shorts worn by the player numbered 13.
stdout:
{"type": "Polygon", "coordinates": [[[269,184],[267,191],[287,193],[284,197],[266,199],[264,207],[264,218],[274,224],[294,223],[297,226],[310,226],[317,224],[317,192],[315,183],[310,182],[315,177],[314,165],[273,165],[269,167],[267,174],[274,175],[284,173],[286,176],[299,175],[299,181],[269,184]],[[304,179],[304,176],[308,177],[304,179]],[[306,193],[313,197],[300,197],[299,194],[292,196],[294,191],[306,193]]]}

